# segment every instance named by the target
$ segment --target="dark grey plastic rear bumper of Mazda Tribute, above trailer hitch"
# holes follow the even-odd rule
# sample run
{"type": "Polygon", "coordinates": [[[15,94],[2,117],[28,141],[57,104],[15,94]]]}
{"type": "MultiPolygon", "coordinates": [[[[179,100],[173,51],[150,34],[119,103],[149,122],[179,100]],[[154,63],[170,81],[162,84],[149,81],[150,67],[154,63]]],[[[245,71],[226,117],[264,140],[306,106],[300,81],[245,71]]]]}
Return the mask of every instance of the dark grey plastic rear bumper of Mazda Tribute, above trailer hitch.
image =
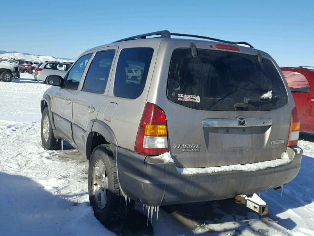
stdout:
{"type": "Polygon", "coordinates": [[[156,159],[123,148],[117,152],[119,182],[124,193],[135,201],[149,205],[169,205],[233,198],[282,186],[299,172],[302,151],[287,148],[289,164],[250,172],[220,172],[184,176],[173,163],[156,163],[156,159]]]}

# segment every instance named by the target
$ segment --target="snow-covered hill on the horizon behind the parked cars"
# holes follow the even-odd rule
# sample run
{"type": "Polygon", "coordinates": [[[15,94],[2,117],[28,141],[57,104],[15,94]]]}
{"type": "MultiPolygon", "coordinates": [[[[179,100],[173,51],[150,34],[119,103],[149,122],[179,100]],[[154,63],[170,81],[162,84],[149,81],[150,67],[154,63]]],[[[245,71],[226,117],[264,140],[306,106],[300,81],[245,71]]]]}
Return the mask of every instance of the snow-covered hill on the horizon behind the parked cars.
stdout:
{"type": "Polygon", "coordinates": [[[2,59],[20,59],[20,60],[29,60],[29,61],[64,61],[64,62],[73,62],[75,59],[69,58],[57,58],[54,56],[44,56],[44,55],[36,55],[36,54],[29,54],[29,53],[19,53],[19,52],[6,52],[0,50],[0,58],[2,59]]]}

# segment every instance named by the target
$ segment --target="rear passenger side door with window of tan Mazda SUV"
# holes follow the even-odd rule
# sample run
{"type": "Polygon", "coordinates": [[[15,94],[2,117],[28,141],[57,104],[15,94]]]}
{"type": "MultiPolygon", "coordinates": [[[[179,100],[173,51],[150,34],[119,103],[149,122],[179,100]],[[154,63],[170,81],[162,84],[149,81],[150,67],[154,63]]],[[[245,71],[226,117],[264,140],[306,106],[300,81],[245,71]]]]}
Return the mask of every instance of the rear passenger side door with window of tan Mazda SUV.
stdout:
{"type": "Polygon", "coordinates": [[[73,138],[80,151],[85,150],[88,124],[97,117],[108,94],[107,84],[117,49],[118,47],[106,47],[95,53],[84,83],[73,101],[73,138]]]}

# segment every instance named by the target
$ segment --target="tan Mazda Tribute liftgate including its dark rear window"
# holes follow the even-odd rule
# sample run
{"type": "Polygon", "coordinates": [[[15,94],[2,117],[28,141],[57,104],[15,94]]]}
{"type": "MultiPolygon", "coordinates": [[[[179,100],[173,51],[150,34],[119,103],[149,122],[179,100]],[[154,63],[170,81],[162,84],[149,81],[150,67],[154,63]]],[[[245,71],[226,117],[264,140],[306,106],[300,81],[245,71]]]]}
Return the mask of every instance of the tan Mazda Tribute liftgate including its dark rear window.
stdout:
{"type": "Polygon", "coordinates": [[[256,52],[175,49],[167,101],[160,106],[177,166],[255,163],[286,150],[292,109],[285,84],[256,52]]]}

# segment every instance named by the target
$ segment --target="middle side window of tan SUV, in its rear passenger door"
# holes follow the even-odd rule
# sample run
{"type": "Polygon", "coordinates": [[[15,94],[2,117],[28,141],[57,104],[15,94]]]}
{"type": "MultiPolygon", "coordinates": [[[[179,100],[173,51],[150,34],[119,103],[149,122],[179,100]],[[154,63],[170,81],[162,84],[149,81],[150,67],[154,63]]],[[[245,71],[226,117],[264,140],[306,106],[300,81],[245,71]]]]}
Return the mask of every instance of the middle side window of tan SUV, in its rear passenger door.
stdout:
{"type": "Polygon", "coordinates": [[[114,54],[115,50],[96,53],[84,81],[84,91],[105,92],[114,54]]]}

